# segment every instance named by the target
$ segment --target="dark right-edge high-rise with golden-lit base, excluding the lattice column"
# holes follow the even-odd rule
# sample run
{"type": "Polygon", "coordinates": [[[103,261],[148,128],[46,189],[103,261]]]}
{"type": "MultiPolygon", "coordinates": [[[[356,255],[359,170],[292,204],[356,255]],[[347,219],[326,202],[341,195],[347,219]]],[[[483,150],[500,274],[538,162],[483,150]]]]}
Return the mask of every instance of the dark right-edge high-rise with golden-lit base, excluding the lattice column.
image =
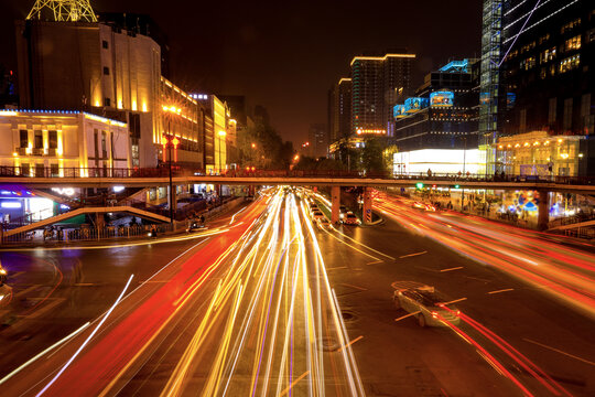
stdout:
{"type": "Polygon", "coordinates": [[[501,3],[499,104],[506,117],[498,127],[500,135],[518,136],[519,141],[493,142],[496,167],[531,174],[595,174],[593,4],[580,0],[501,3]],[[533,136],[540,138],[529,142],[527,137],[533,136]],[[512,153],[517,144],[530,146],[533,154],[512,165],[511,159],[521,158],[512,153]],[[560,148],[552,151],[551,144],[560,148]]]}

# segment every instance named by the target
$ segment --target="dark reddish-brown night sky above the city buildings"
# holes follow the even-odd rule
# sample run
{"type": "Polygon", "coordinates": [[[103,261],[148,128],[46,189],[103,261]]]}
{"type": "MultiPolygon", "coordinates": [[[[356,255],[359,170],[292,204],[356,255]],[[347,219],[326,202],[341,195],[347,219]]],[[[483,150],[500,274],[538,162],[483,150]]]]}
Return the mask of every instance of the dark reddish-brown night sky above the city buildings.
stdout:
{"type": "MultiPolygon", "coordinates": [[[[0,0],[0,63],[17,67],[14,19],[34,0],[0,0]]],[[[479,55],[482,1],[91,0],[96,12],[145,13],[167,35],[171,79],[196,93],[246,95],[299,144],[327,120],[327,90],[354,55],[405,47],[413,86],[448,58],[479,55]]]]}

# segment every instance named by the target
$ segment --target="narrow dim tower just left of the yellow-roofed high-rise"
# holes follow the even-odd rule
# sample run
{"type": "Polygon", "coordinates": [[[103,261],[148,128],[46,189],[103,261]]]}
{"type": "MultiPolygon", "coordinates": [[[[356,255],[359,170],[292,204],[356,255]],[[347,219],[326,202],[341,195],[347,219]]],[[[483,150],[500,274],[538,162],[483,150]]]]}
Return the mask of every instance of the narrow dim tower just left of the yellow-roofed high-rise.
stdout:
{"type": "Polygon", "coordinates": [[[351,133],[351,79],[340,78],[328,93],[329,143],[351,133]]]}

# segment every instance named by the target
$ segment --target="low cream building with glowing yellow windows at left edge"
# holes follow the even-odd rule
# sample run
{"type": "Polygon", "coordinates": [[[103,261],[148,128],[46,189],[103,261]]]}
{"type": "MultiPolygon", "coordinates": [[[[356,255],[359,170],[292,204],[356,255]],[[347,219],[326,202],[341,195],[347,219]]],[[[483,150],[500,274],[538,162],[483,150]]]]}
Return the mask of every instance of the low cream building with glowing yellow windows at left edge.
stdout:
{"type": "Polygon", "coordinates": [[[88,169],[110,175],[130,168],[128,126],[93,114],[0,110],[0,165],[21,175],[88,176],[88,169]]]}

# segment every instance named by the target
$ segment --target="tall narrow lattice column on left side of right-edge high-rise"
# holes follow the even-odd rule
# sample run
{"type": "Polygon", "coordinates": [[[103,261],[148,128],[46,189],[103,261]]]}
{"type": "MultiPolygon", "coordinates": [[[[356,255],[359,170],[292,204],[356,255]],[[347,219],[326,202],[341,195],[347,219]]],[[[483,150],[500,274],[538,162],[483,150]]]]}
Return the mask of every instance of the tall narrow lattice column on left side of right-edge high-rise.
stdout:
{"type": "Polygon", "coordinates": [[[479,82],[479,149],[485,150],[486,173],[497,170],[494,143],[498,140],[498,92],[502,0],[484,0],[482,71],[479,82]]]}

